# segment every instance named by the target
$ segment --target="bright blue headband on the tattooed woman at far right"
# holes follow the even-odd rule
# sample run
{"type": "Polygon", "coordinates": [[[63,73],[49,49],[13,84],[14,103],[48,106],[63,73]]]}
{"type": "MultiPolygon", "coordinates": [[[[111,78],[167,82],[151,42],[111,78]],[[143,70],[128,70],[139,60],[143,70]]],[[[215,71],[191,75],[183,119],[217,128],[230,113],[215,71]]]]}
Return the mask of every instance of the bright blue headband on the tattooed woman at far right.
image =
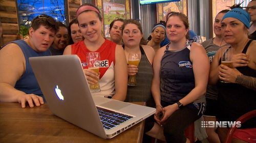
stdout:
{"type": "Polygon", "coordinates": [[[222,20],[224,20],[225,18],[228,18],[228,17],[237,18],[238,20],[243,22],[247,28],[250,27],[251,17],[249,15],[249,13],[246,12],[245,10],[243,10],[242,8],[231,9],[229,12],[227,12],[223,16],[222,20]]]}

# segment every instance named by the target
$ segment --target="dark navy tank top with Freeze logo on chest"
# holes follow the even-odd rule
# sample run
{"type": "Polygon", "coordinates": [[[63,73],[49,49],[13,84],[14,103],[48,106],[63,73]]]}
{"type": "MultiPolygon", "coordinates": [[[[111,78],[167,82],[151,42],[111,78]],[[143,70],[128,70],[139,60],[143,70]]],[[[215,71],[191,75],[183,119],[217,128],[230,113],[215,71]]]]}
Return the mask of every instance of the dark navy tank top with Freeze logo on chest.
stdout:
{"type": "Polygon", "coordinates": [[[195,88],[193,63],[190,61],[191,43],[179,51],[166,46],[160,67],[161,100],[175,103],[195,88]]]}

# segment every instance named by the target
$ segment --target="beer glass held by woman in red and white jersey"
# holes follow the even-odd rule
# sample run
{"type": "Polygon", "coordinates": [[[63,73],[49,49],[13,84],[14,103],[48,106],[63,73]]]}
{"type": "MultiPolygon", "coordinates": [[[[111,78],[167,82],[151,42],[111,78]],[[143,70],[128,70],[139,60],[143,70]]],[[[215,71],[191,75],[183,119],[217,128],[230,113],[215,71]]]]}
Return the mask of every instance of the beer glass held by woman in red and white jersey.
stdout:
{"type": "MultiPolygon", "coordinates": [[[[86,58],[87,58],[88,69],[93,70],[97,74],[99,74],[99,67],[100,67],[99,52],[88,52],[86,58]]],[[[90,90],[91,92],[100,92],[99,80],[95,84],[90,84],[90,90]]]]}

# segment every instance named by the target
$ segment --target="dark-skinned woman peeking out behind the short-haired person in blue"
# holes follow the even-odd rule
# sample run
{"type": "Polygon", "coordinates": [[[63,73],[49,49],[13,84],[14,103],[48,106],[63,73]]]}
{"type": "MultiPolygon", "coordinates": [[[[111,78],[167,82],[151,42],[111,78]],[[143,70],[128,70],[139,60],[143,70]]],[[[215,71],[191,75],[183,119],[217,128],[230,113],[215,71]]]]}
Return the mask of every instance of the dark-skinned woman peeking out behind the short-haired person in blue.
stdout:
{"type": "Polygon", "coordinates": [[[52,55],[62,55],[65,47],[68,45],[68,28],[60,21],[57,21],[56,25],[58,26],[58,31],[54,36],[54,41],[50,50],[52,55]]]}

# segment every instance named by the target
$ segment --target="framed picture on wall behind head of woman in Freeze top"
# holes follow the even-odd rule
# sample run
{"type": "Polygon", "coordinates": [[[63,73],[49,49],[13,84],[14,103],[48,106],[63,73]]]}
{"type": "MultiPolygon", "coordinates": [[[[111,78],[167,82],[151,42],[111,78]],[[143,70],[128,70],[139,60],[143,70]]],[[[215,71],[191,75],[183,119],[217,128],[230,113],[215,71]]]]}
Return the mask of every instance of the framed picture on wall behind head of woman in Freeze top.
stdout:
{"type": "Polygon", "coordinates": [[[187,16],[187,0],[157,4],[157,21],[166,21],[167,14],[172,11],[181,12],[187,16]]]}

